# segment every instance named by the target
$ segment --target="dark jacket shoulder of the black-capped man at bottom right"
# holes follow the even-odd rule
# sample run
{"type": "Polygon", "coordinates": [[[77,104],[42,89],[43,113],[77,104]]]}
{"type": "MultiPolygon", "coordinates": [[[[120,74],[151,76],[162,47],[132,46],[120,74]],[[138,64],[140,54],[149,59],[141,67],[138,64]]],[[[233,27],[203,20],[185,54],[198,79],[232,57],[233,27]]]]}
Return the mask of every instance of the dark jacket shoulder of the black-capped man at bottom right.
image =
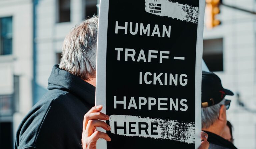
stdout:
{"type": "Polygon", "coordinates": [[[222,138],[221,136],[209,131],[204,132],[208,134],[207,141],[210,143],[209,149],[237,149],[233,143],[222,138]]]}

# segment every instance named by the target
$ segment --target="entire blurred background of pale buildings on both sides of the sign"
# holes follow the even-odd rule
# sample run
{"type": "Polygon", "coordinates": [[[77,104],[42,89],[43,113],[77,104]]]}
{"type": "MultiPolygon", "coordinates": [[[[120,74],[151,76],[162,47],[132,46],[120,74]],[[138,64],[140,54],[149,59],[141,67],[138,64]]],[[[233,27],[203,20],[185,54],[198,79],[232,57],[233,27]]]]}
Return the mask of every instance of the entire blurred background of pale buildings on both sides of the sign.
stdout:
{"type": "MultiPolygon", "coordinates": [[[[97,15],[98,3],[0,0],[0,149],[13,148],[19,123],[47,91],[65,36],[97,15]]],[[[227,120],[234,126],[239,149],[256,149],[255,6],[255,0],[223,0],[216,15],[210,3],[206,6],[203,59],[235,93],[227,120]]]]}

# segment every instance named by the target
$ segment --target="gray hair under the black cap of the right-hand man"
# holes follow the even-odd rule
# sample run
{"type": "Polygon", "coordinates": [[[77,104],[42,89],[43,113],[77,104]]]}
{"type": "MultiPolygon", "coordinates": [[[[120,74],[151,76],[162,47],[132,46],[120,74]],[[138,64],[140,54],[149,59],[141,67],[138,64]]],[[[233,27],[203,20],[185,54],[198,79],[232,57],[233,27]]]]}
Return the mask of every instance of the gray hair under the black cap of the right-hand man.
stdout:
{"type": "Polygon", "coordinates": [[[219,117],[220,107],[225,104],[225,99],[220,103],[202,108],[202,128],[209,128],[219,117]]]}

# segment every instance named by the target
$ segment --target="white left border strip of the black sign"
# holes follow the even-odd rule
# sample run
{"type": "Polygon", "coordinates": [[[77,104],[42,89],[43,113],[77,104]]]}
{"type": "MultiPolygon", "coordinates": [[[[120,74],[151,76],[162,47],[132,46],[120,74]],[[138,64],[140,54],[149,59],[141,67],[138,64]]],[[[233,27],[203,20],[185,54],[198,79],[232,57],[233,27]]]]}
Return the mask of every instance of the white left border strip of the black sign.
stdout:
{"type": "MultiPolygon", "coordinates": [[[[96,87],[95,105],[103,106],[103,109],[101,110],[102,113],[106,113],[106,55],[108,33],[108,7],[109,0],[100,0],[96,64],[96,86],[98,87],[96,87]]],[[[106,133],[106,130],[102,128],[97,128],[97,130],[106,133]]],[[[97,141],[96,147],[97,149],[107,149],[107,141],[104,139],[99,139],[97,141]]]]}

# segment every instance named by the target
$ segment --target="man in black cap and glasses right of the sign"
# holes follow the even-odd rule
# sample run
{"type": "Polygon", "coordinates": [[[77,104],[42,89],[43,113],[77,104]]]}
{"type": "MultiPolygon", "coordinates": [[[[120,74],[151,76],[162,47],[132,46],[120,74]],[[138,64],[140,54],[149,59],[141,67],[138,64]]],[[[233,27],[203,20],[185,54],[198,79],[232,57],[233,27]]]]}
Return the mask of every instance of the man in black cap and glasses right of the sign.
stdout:
{"type": "Polygon", "coordinates": [[[227,125],[226,110],[229,109],[231,100],[225,99],[226,95],[234,93],[224,89],[220,78],[212,72],[202,73],[202,130],[209,137],[209,149],[237,149],[233,143],[221,137],[227,125]]]}

